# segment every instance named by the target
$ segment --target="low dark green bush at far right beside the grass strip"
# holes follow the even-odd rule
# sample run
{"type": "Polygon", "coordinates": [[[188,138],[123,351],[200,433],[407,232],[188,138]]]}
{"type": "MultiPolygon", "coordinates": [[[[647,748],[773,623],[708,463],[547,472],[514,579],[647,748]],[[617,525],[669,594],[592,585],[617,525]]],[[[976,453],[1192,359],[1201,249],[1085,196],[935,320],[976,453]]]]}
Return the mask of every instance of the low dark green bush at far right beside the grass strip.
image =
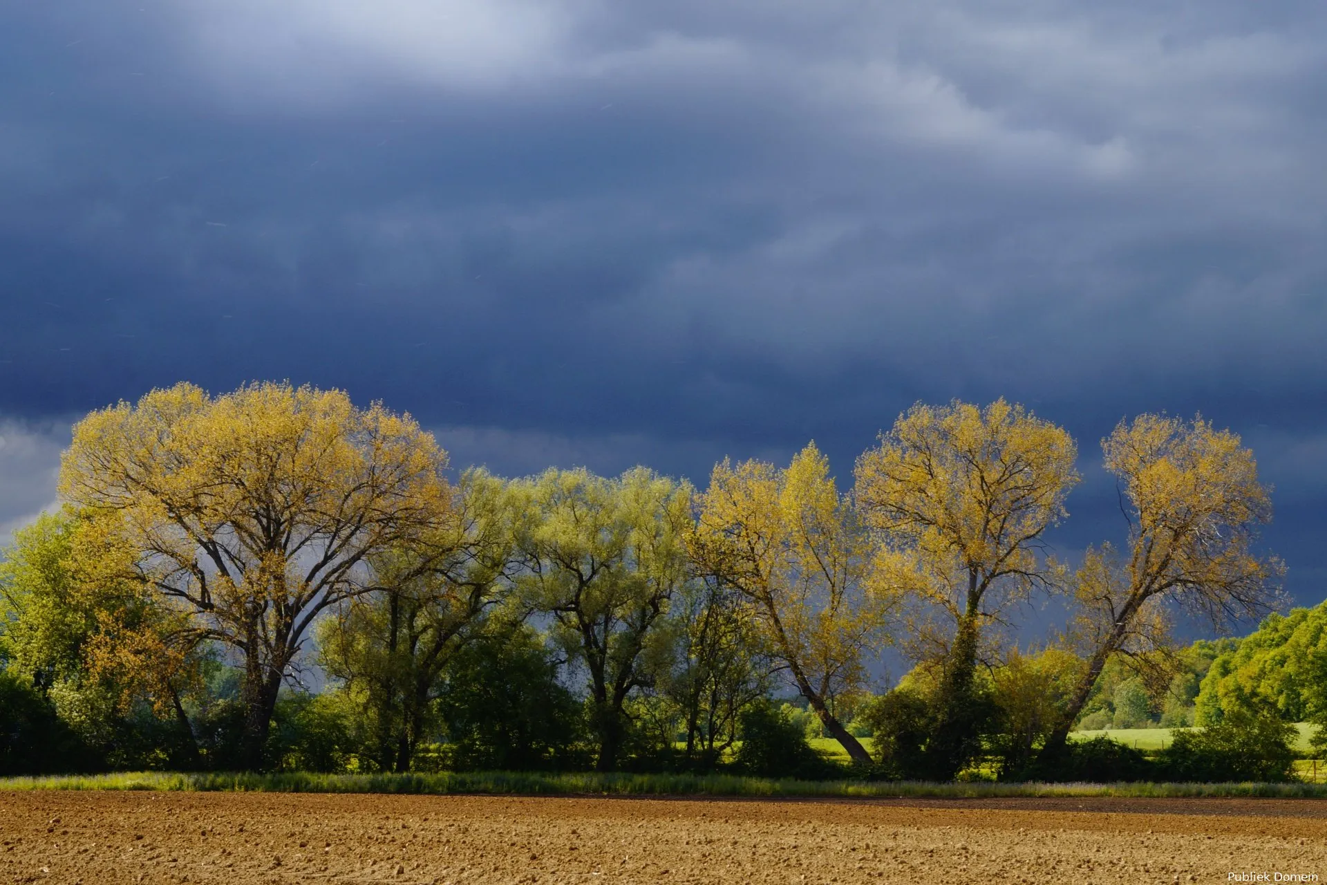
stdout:
{"type": "Polygon", "coordinates": [[[1295,780],[1295,727],[1271,713],[1227,711],[1217,724],[1180,731],[1157,756],[1166,780],[1295,780]]]}

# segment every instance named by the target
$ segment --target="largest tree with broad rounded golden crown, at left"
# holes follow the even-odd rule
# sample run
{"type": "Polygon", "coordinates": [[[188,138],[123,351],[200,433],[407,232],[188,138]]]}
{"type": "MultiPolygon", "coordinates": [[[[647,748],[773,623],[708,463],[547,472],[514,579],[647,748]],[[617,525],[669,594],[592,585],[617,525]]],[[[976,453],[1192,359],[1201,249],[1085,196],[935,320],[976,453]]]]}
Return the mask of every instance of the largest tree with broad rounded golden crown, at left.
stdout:
{"type": "MultiPolygon", "coordinates": [[[[135,573],[244,659],[245,764],[313,620],[377,586],[370,557],[450,519],[446,454],[409,415],[338,390],[179,383],[74,426],[66,500],[113,516],[135,573]]],[[[443,532],[446,536],[447,532],[443,532]]]]}

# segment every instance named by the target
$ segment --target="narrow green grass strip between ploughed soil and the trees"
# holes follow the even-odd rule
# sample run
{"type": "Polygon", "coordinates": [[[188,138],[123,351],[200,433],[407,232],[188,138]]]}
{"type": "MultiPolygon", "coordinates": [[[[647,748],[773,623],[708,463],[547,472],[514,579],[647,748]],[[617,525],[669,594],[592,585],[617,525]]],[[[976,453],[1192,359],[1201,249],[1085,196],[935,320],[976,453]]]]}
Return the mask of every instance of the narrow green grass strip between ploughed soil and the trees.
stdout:
{"type": "Polygon", "coordinates": [[[405,775],[119,772],[0,779],[0,789],[151,789],[186,792],[425,793],[496,796],[722,796],[819,799],[986,797],[1327,797],[1327,784],[1044,784],[771,780],[733,775],[441,772],[405,775]]]}

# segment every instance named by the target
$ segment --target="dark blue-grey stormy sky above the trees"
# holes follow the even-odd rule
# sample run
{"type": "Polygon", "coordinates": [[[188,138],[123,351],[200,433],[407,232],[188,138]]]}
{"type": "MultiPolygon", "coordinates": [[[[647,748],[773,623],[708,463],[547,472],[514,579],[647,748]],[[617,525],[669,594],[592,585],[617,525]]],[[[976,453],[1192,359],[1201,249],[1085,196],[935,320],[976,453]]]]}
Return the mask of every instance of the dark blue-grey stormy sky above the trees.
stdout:
{"type": "Polygon", "coordinates": [[[73,418],[338,386],[522,474],[1005,395],[1242,434],[1327,596],[1327,5],[64,0],[0,12],[0,533],[73,418]]]}

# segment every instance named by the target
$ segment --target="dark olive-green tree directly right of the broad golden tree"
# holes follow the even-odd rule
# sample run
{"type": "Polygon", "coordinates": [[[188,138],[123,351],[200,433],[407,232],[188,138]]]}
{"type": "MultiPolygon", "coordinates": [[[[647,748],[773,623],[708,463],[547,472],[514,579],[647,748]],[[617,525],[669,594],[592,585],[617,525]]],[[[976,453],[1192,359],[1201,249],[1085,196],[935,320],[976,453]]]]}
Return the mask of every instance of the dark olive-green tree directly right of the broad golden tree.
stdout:
{"type": "Polygon", "coordinates": [[[519,515],[506,483],[468,470],[455,502],[456,537],[374,556],[385,589],[344,601],[318,629],[320,661],[362,698],[385,771],[410,770],[431,724],[443,671],[503,600],[516,565],[519,515]],[[439,548],[450,552],[437,557],[439,548]]]}

